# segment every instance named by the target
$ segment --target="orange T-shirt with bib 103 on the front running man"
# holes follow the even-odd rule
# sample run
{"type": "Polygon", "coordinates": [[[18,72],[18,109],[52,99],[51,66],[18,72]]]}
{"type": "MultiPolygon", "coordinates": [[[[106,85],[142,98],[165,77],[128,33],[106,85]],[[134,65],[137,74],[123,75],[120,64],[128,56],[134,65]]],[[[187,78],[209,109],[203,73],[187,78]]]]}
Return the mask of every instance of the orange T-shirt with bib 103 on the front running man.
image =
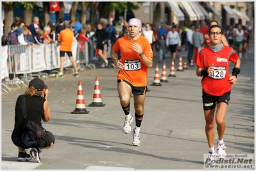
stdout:
{"type": "Polygon", "coordinates": [[[128,36],[117,39],[113,45],[113,50],[117,53],[121,51],[121,63],[124,64],[124,69],[119,70],[117,79],[124,79],[133,86],[146,86],[148,83],[148,67],[141,60],[141,56],[133,49],[133,44],[141,45],[143,53],[148,58],[153,58],[151,45],[144,37],[139,37],[137,40],[129,40],[128,36]]]}

